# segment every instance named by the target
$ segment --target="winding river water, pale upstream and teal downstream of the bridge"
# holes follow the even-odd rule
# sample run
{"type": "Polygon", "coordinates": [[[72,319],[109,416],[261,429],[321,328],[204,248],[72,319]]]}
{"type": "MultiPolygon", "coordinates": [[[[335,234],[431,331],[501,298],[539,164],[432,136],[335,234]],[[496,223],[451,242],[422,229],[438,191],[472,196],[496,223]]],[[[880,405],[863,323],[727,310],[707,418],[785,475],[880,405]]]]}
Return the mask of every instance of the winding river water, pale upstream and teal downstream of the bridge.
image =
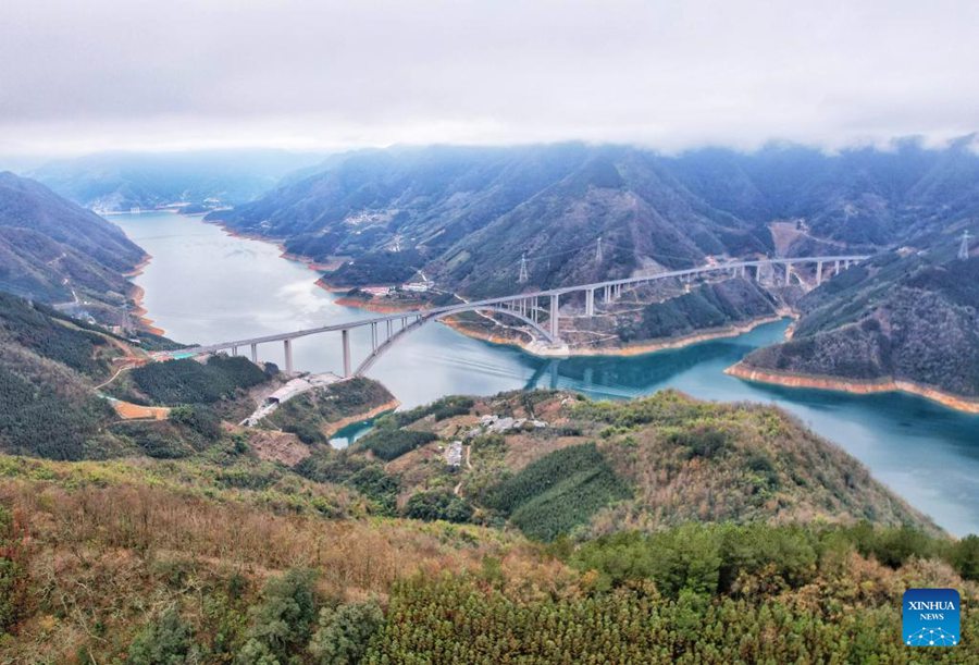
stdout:
{"type": "MultiPolygon", "coordinates": [[[[222,342],[371,316],[337,305],[336,295],[315,285],[315,272],[282,258],[270,243],[169,212],[110,219],[152,256],[133,281],[145,290],[147,316],[177,342],[222,342]]],[[[979,533],[979,416],[899,393],[788,389],[723,373],[752,349],[781,340],[785,327],[771,323],[645,356],[549,360],[430,323],[395,344],[368,374],[406,407],[449,394],[535,386],[612,399],[674,387],[703,399],[774,404],[854,455],[950,532],[979,533]]],[[[369,347],[367,332],[352,334],[355,358],[369,347]]],[[[295,340],[293,356],[297,369],[339,372],[339,333],[295,340]]],[[[282,366],[282,344],[260,346],[259,358],[282,366]]]]}

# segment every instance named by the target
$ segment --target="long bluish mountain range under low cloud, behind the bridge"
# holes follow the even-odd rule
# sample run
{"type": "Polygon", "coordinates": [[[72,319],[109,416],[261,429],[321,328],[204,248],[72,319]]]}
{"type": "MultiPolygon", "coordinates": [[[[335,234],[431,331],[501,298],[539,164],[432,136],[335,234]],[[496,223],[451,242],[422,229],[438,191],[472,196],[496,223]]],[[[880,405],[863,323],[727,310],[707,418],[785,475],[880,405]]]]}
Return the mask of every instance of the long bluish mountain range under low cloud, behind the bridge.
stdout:
{"type": "MultiPolygon", "coordinates": [[[[972,137],[839,153],[770,146],[678,156],[579,144],[393,148],[334,156],[258,200],[211,214],[326,262],[326,281],[419,269],[468,296],[624,276],[708,256],[870,253],[979,212],[972,137]],[[604,251],[597,260],[602,237],[604,251]]],[[[377,279],[374,276],[373,279],[377,279]]]]}

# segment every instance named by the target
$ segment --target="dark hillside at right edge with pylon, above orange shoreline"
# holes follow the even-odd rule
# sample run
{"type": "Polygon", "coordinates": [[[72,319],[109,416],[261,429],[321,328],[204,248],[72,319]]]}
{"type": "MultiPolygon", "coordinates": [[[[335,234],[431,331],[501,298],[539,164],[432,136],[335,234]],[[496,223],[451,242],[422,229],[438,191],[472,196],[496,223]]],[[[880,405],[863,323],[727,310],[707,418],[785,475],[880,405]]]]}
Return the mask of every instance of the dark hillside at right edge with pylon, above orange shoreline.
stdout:
{"type": "Polygon", "coordinates": [[[841,387],[904,382],[977,401],[979,257],[956,258],[951,234],[922,244],[811,292],[800,303],[792,340],[755,352],[733,371],[840,380],[841,387]]]}

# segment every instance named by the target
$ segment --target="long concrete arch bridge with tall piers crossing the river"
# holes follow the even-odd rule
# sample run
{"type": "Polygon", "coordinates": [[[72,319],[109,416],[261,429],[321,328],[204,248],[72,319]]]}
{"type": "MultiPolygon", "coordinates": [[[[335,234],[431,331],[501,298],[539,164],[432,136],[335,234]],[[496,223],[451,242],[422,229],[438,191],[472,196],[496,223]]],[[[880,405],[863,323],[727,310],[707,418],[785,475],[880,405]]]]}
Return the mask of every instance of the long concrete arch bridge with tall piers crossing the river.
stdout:
{"type": "Polygon", "coordinates": [[[344,358],[344,377],[358,377],[369,370],[377,358],[405,335],[421,328],[429,321],[436,321],[453,315],[467,311],[505,315],[530,328],[534,334],[538,335],[540,338],[544,340],[552,347],[558,347],[561,345],[560,299],[562,296],[583,293],[584,316],[594,317],[596,316],[595,310],[597,304],[614,303],[625,290],[660,280],[672,279],[690,282],[699,276],[728,274],[731,276],[748,278],[759,282],[769,279],[774,283],[783,285],[791,284],[792,279],[795,278],[798,283],[805,284],[802,276],[796,271],[796,268],[801,264],[806,264],[815,267],[815,282],[818,286],[819,284],[822,284],[826,279],[840,274],[842,270],[867,258],[867,256],[847,255],[778,259],[766,258],[711,263],[698,268],[668,270],[647,275],[607,280],[592,284],[579,284],[531,293],[519,293],[497,298],[486,298],[483,300],[459,303],[444,307],[384,315],[359,321],[348,321],[345,323],[296,330],[261,337],[249,337],[194,346],[179,349],[178,352],[158,354],[158,357],[173,357],[177,354],[202,355],[222,350],[230,352],[232,355],[237,355],[239,348],[248,347],[251,360],[258,361],[258,347],[260,344],[282,343],[285,353],[285,370],[287,373],[293,373],[293,340],[323,333],[339,332],[344,358]],[[350,353],[350,331],[368,327],[370,327],[371,352],[355,367],[354,357],[350,353]]]}

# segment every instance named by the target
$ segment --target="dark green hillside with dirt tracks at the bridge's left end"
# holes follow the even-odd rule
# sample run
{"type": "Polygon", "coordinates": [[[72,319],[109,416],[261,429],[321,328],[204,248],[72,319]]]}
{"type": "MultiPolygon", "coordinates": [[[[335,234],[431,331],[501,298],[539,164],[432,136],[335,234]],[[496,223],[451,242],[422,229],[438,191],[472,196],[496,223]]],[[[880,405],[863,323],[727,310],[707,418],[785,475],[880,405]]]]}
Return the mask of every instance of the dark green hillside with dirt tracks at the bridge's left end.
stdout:
{"type": "Polygon", "coordinates": [[[253,408],[247,389],[275,371],[221,356],[207,365],[146,362],[146,352],[127,338],[0,292],[0,452],[52,459],[186,456],[222,436],[222,415],[253,408]],[[110,394],[181,409],[169,421],[125,420],[110,394]]]}

